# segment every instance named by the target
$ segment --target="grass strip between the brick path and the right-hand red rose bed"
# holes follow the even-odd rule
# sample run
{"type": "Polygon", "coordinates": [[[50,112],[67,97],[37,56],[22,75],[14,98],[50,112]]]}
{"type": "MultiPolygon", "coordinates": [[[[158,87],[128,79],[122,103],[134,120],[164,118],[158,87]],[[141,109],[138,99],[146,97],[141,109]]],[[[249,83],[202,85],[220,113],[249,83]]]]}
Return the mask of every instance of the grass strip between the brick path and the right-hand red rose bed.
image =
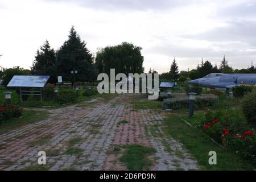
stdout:
{"type": "Polygon", "coordinates": [[[170,114],[164,121],[166,126],[164,131],[184,144],[185,148],[197,159],[201,170],[253,170],[249,161],[213,143],[203,131],[190,127],[182,121],[182,117],[185,117],[185,115],[170,114]],[[217,152],[216,165],[208,163],[209,151],[217,152]]]}

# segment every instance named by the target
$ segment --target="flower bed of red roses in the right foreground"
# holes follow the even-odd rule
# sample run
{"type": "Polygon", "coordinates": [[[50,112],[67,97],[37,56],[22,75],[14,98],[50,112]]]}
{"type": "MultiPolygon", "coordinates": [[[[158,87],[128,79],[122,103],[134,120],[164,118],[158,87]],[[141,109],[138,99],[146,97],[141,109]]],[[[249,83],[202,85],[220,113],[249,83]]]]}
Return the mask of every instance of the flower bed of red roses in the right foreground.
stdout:
{"type": "Polygon", "coordinates": [[[216,142],[256,164],[256,138],[236,110],[205,110],[200,127],[216,142]]]}

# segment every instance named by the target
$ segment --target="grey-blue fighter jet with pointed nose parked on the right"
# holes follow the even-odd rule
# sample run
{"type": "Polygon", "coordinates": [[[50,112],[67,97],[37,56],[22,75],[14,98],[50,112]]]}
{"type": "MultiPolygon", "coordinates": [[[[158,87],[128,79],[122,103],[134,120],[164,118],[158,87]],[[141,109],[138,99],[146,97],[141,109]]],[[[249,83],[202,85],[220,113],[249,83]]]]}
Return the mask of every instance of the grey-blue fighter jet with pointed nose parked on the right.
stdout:
{"type": "Polygon", "coordinates": [[[234,86],[252,85],[256,86],[256,74],[226,74],[210,73],[209,75],[188,81],[190,84],[214,87],[216,89],[231,89],[234,86]]]}

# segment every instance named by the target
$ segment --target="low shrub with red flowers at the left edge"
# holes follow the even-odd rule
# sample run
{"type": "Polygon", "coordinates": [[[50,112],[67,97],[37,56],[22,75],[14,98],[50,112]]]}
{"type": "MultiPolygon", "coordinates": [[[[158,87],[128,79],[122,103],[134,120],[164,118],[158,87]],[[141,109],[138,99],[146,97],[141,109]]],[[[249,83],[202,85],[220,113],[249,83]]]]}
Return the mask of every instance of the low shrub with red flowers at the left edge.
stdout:
{"type": "Polygon", "coordinates": [[[0,121],[7,121],[11,118],[20,117],[22,115],[22,108],[13,104],[0,105],[0,121]]]}

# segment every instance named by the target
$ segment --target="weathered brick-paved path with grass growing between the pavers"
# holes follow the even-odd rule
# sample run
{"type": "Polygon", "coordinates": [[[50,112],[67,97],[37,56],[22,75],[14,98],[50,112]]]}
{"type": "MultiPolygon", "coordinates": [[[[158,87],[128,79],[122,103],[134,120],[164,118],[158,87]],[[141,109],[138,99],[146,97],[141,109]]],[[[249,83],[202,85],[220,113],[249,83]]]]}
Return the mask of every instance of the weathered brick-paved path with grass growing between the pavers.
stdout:
{"type": "Polygon", "coordinates": [[[0,169],[32,168],[43,150],[49,170],[126,170],[122,152],[113,150],[134,143],[155,148],[150,170],[198,169],[181,143],[164,136],[164,114],[134,110],[133,100],[135,94],[123,94],[52,109],[48,119],[0,135],[0,169]]]}

